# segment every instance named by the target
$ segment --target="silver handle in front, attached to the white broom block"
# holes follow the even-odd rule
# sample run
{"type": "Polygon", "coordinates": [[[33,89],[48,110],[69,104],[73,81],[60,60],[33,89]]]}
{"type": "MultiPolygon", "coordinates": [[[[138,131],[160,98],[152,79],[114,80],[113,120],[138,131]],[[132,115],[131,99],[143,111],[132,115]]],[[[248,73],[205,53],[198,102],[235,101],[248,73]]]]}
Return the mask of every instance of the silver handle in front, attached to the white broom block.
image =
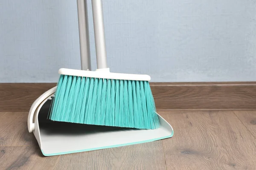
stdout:
{"type": "Polygon", "coordinates": [[[108,68],[102,0],[92,0],[97,69],[108,68]]]}

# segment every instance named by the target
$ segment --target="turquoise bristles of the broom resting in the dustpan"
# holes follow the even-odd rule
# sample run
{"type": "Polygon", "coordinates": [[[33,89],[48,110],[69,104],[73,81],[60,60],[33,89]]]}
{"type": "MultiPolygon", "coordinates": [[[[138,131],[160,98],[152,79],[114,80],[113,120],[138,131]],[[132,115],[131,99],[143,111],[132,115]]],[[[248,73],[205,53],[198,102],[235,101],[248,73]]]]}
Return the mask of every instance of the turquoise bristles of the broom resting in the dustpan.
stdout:
{"type": "Polygon", "coordinates": [[[160,126],[147,81],[61,75],[49,119],[89,125],[160,126]]]}

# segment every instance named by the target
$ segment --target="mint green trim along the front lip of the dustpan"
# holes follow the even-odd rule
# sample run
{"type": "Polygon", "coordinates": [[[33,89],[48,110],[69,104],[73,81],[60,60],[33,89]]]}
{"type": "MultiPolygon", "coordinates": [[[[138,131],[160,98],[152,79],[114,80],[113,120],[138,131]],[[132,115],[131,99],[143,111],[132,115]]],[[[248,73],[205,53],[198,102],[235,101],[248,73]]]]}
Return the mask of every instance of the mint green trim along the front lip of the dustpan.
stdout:
{"type": "Polygon", "coordinates": [[[121,146],[128,146],[128,145],[132,145],[132,144],[141,144],[141,143],[146,143],[146,142],[153,142],[153,141],[158,141],[158,140],[162,140],[162,139],[171,138],[173,136],[173,134],[174,134],[174,131],[172,131],[172,134],[170,136],[165,136],[165,137],[162,137],[162,138],[150,139],[150,140],[140,141],[140,142],[132,142],[132,143],[127,143],[127,144],[116,144],[116,145],[106,146],[106,147],[96,147],[96,148],[91,148],[91,149],[75,150],[75,151],[69,151],[69,152],[47,154],[47,153],[44,153],[43,150],[41,150],[41,151],[42,151],[44,156],[64,155],[64,154],[69,154],[69,153],[86,152],[86,151],[91,151],[91,150],[108,149],[108,148],[112,148],[112,147],[121,147],[121,146]]]}

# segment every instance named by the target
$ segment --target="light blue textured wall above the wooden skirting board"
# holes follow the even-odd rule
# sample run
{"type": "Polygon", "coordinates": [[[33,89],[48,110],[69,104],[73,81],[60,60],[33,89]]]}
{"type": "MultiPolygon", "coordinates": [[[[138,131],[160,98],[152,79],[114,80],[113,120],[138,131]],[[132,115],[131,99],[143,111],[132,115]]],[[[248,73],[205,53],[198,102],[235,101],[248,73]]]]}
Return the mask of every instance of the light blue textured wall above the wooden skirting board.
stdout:
{"type": "MultiPolygon", "coordinates": [[[[152,82],[256,81],[255,0],[103,5],[112,72],[152,82]]],[[[76,0],[0,0],[0,82],[57,82],[62,67],[80,68],[76,0]]]]}

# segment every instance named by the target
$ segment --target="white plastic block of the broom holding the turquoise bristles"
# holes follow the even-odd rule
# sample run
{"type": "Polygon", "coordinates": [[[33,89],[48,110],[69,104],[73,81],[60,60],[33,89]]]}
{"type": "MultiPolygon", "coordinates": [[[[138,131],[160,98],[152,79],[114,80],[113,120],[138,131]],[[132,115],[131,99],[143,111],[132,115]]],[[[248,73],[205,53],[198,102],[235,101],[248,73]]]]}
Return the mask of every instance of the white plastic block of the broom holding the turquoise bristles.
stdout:
{"type": "Polygon", "coordinates": [[[136,80],[136,81],[150,81],[150,76],[143,74],[122,74],[111,73],[109,68],[97,69],[96,71],[74,70],[68,68],[61,68],[59,74],[79,77],[92,77],[100,79],[120,79],[120,80],[136,80]]]}

